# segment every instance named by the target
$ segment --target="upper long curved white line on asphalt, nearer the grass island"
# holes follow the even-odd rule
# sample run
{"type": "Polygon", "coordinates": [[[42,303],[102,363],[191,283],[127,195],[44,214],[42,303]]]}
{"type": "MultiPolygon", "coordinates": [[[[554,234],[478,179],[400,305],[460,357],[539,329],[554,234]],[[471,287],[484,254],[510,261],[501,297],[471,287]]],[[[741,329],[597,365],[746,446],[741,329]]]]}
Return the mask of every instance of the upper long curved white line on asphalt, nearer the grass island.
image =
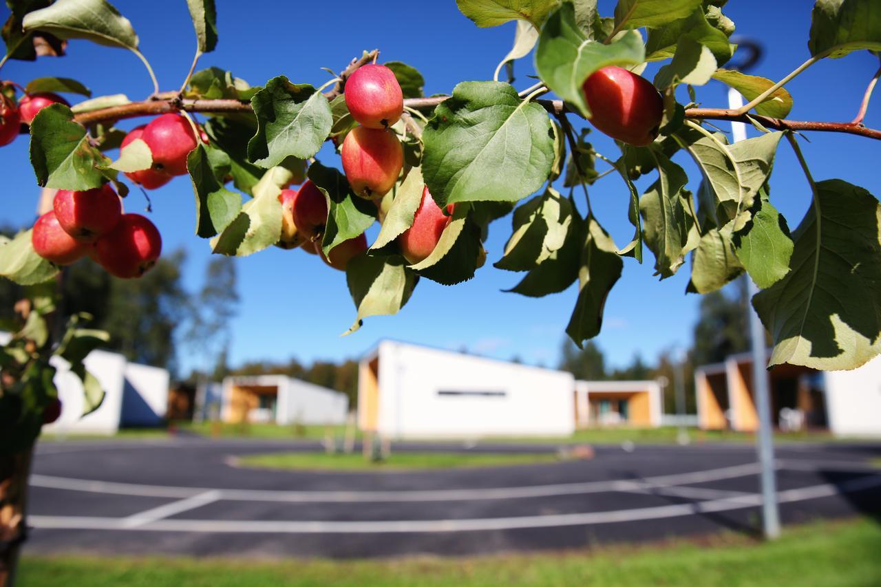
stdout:
{"type": "Polygon", "coordinates": [[[469,489],[394,490],[394,491],[278,491],[261,489],[212,489],[210,487],[167,487],[114,483],[90,479],[70,479],[31,475],[33,487],[49,487],[99,494],[138,495],[144,497],[186,498],[207,491],[218,491],[221,500],[243,502],[474,502],[478,500],[520,499],[551,495],[595,494],[607,491],[642,491],[651,487],[670,487],[734,479],[759,472],[759,464],[737,464],[707,471],[694,471],[648,477],[639,480],[587,481],[527,487],[474,487],[469,489]]]}

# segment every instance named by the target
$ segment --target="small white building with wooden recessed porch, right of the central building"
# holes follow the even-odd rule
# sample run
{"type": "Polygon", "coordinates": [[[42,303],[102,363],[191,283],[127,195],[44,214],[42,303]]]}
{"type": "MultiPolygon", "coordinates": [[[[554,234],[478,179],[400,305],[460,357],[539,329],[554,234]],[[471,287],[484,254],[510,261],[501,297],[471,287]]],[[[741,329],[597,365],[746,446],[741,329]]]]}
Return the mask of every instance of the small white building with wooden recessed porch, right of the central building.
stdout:
{"type": "Polygon", "coordinates": [[[663,418],[661,385],[656,381],[577,381],[578,427],[658,427],[663,418]]]}

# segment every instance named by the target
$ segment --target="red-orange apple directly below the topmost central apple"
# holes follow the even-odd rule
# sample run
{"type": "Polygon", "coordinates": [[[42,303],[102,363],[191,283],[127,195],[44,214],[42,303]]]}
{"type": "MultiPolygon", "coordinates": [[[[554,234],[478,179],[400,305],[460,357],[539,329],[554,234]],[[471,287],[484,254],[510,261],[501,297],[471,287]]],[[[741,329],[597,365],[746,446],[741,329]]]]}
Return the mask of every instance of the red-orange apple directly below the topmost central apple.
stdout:
{"type": "Polygon", "coordinates": [[[403,168],[403,147],[391,130],[357,126],[345,136],[340,154],[352,191],[369,200],[392,189],[403,168]]]}

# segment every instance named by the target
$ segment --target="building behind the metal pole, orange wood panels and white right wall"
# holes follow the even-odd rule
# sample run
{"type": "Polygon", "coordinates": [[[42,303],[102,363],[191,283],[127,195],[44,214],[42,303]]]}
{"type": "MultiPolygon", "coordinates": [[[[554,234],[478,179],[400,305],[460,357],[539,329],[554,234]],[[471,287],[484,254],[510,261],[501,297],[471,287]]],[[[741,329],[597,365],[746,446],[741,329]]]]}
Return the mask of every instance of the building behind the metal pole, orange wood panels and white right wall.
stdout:
{"type": "MultiPolygon", "coordinates": [[[[835,435],[881,435],[881,357],[852,371],[780,365],[768,372],[768,378],[776,426],[825,428],[835,435]]],[[[742,431],[759,427],[750,353],[696,369],[694,387],[700,427],[742,431]]]]}

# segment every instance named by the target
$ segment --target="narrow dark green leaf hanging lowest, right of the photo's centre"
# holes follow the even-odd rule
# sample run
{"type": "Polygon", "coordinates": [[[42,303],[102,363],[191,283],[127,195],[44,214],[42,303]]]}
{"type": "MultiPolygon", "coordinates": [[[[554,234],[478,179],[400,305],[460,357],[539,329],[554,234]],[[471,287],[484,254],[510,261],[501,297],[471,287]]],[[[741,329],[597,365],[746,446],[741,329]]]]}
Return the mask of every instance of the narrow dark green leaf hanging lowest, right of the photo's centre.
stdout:
{"type": "Polygon", "coordinates": [[[606,298],[624,269],[616,252],[618,247],[593,216],[587,219],[586,232],[578,271],[578,300],[566,326],[566,334],[579,347],[600,333],[606,298]]]}

